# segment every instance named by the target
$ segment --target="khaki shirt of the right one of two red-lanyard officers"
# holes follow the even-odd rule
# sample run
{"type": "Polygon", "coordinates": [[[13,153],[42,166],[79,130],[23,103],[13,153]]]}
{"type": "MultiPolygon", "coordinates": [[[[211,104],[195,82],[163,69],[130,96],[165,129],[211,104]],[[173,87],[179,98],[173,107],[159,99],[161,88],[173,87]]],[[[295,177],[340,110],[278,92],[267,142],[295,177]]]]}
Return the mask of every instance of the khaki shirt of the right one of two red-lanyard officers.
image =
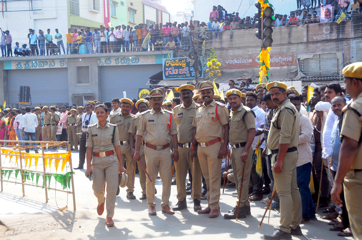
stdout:
{"type": "Polygon", "coordinates": [[[192,125],[196,127],[196,140],[198,142],[210,142],[216,138],[224,137],[223,125],[229,123],[229,111],[225,104],[212,102],[205,106],[203,103],[197,108],[192,125]],[[219,105],[219,106],[218,106],[219,105]],[[218,106],[219,121],[216,116],[216,106],[218,106]],[[214,120],[212,119],[214,118],[214,120]]]}

